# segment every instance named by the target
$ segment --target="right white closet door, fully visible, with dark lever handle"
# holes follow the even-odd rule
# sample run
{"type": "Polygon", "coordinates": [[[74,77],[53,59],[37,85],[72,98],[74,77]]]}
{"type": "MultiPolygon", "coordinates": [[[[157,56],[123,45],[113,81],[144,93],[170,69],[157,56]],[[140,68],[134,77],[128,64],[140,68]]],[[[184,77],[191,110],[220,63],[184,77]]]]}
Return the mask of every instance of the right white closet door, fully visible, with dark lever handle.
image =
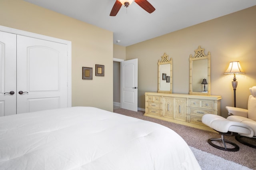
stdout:
{"type": "Polygon", "coordinates": [[[66,44],[17,35],[17,113],[68,107],[67,59],[66,44]]]}

